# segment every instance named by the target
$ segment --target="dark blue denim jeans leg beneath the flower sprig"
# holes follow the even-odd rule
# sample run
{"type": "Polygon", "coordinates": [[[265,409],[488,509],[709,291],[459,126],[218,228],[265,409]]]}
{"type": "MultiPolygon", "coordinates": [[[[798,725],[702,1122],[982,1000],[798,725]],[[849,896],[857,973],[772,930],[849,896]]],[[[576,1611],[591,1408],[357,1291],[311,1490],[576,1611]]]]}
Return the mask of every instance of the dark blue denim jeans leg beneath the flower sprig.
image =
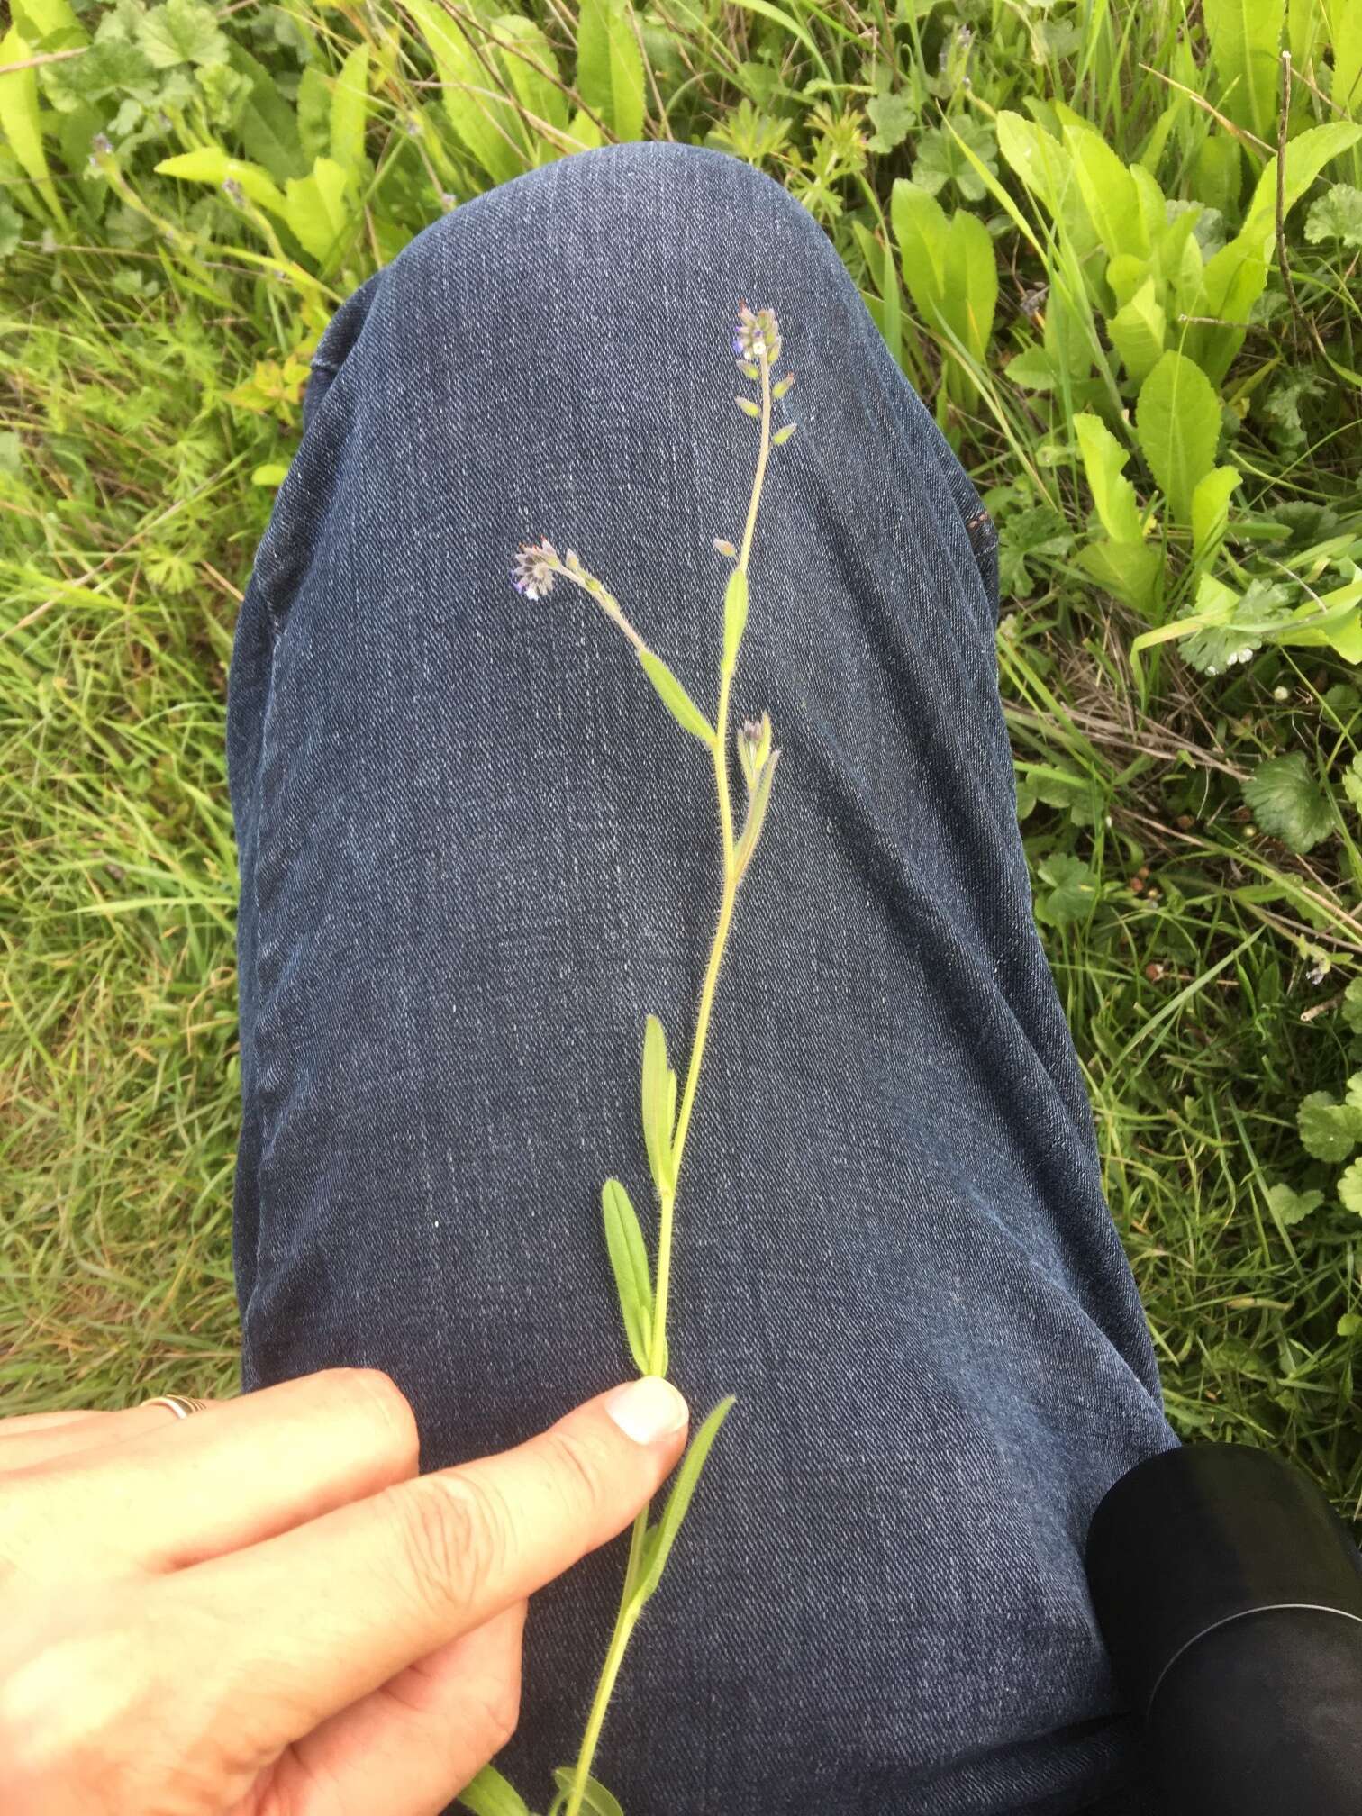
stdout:
{"type": "MultiPolygon", "coordinates": [[[[316,354],[231,674],[243,1389],[387,1369],[441,1467],[632,1371],[599,1189],[652,1202],[643,1024],[685,1057],[714,775],[594,603],[510,563],[576,548],[712,710],[739,298],[797,372],[734,690],[783,757],[668,1318],[696,1426],[737,1404],[599,1776],[628,1816],[1144,1811],[1081,1553],[1177,1438],[1031,919],[993,530],[819,225],[735,158],[494,189],[316,354]]],[[[530,1604],[499,1763],[534,1807],[623,1558],[530,1604]]]]}

